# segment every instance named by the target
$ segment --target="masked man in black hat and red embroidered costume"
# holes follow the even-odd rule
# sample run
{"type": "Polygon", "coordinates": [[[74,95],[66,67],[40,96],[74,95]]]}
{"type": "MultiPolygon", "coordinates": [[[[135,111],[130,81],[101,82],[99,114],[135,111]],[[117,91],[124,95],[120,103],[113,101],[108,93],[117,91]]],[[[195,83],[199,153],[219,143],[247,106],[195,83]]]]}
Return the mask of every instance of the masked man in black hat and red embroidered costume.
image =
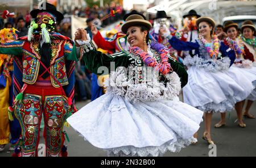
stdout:
{"type": "Polygon", "coordinates": [[[42,114],[46,156],[67,156],[63,127],[77,111],[73,105],[76,49],[71,39],[54,32],[63,14],[43,3],[42,10],[30,12],[34,20],[28,36],[0,45],[0,53],[15,55],[14,113],[22,127],[20,151],[15,150],[18,156],[38,155],[42,114]]]}

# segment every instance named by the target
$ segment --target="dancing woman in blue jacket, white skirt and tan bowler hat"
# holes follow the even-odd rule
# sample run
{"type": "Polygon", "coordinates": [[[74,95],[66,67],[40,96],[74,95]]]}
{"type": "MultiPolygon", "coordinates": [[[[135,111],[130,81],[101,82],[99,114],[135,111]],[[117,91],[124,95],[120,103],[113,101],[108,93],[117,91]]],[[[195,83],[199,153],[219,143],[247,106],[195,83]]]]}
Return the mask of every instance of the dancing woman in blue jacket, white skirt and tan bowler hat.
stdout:
{"type": "MultiPolygon", "coordinates": [[[[195,56],[187,56],[183,61],[188,66],[189,76],[188,84],[183,88],[184,102],[205,112],[203,139],[209,144],[214,144],[210,136],[212,114],[231,111],[243,93],[250,93],[253,90],[253,85],[247,81],[247,88],[243,88],[227,74],[236,54],[218,40],[216,35],[212,36],[214,20],[204,16],[197,19],[196,24],[200,32],[199,40],[184,42],[170,35],[168,39],[172,47],[178,51],[195,49],[195,56]]],[[[246,82],[241,73],[235,75],[236,78],[238,76],[246,82]]]]}

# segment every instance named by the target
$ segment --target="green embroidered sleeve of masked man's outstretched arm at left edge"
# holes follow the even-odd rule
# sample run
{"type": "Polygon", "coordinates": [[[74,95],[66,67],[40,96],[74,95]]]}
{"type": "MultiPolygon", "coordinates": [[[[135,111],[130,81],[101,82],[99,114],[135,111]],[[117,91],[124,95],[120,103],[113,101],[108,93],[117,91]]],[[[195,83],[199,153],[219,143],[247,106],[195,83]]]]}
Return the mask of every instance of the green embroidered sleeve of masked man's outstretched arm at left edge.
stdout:
{"type": "Polygon", "coordinates": [[[11,43],[0,43],[1,54],[12,54],[18,56],[22,54],[24,41],[13,41],[11,43]]]}

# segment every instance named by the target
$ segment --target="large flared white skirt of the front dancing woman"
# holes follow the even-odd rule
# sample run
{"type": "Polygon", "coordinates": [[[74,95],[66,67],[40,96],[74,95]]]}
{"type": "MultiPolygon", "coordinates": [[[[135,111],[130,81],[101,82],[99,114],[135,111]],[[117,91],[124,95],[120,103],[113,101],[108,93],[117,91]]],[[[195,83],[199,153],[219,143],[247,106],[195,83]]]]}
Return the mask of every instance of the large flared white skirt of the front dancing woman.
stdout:
{"type": "Polygon", "coordinates": [[[97,148],[129,156],[161,156],[195,142],[203,112],[175,100],[131,102],[107,93],[67,119],[97,148]]]}

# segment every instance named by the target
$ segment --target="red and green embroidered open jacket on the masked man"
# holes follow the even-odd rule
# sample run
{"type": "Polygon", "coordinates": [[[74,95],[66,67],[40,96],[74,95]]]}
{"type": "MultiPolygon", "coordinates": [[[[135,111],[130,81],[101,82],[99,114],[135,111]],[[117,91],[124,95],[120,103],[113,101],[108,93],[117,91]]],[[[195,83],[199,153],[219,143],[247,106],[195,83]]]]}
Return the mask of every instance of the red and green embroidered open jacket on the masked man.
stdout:
{"type": "MultiPolygon", "coordinates": [[[[76,49],[73,49],[75,45],[71,39],[59,33],[53,33],[52,37],[50,72],[62,86],[65,86],[69,84],[65,60],[77,61],[76,49]]],[[[0,45],[0,53],[22,56],[22,81],[30,85],[34,84],[40,75],[39,68],[41,65],[39,60],[41,60],[41,56],[39,45],[39,40],[28,41],[27,36],[20,37],[13,43],[0,45]]],[[[60,87],[52,77],[51,82],[53,87],[60,87]]]]}

